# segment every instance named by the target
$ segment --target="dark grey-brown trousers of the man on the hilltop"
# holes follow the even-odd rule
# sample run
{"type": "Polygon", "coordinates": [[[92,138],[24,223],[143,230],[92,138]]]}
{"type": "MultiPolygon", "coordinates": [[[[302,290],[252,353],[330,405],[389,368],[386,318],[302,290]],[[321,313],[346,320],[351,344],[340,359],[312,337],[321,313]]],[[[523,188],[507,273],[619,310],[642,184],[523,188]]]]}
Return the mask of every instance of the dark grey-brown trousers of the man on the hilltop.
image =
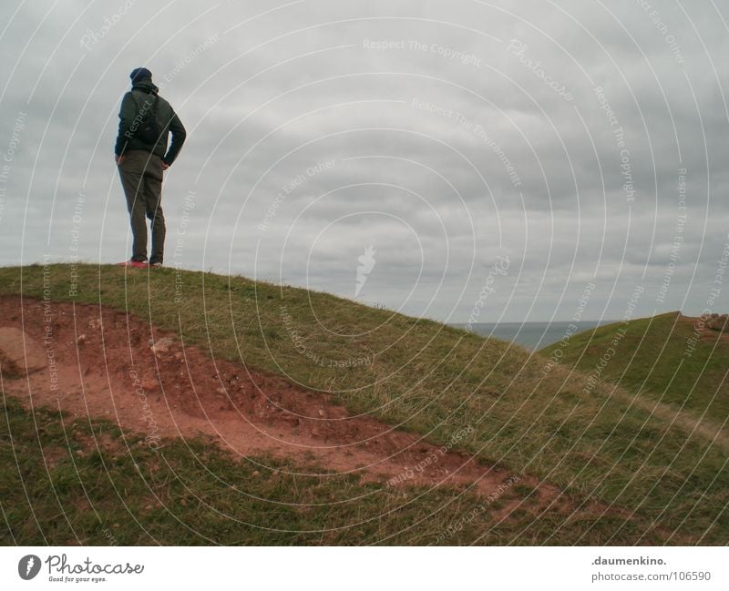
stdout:
{"type": "Polygon", "coordinates": [[[133,237],[131,260],[147,260],[147,220],[152,229],[150,263],[161,263],[165,251],[165,217],[162,213],[162,158],[144,150],[129,150],[118,167],[127,196],[133,237]]]}

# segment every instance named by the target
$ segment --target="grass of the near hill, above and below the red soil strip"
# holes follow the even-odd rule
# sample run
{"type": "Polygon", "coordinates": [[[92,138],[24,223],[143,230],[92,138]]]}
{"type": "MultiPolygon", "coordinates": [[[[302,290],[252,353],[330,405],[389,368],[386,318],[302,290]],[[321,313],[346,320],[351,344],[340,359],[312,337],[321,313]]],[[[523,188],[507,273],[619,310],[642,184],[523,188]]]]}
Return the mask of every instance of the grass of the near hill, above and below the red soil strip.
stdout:
{"type": "MultiPolygon", "coordinates": [[[[6,401],[11,419],[0,432],[2,482],[7,481],[5,475],[15,480],[0,491],[8,525],[2,537],[5,543],[73,540],[69,532],[79,530],[75,522],[64,525],[67,511],[88,522],[79,525],[84,533],[81,541],[99,543],[103,531],[99,520],[106,522],[108,517],[95,516],[83,503],[75,508],[72,502],[81,498],[78,487],[89,481],[98,487],[92,486],[97,494],[105,493],[93,503],[87,497],[88,504],[108,505],[104,515],[116,515],[118,529],[110,531],[121,543],[729,542],[725,433],[706,417],[696,429],[697,416],[689,410],[676,412],[652,398],[646,404],[631,389],[635,382],[625,382],[624,387],[593,383],[590,372],[570,371],[565,358],[549,365],[543,354],[433,321],[242,277],[92,265],[0,269],[0,296],[19,294],[129,311],[178,332],[211,356],[331,392],[351,413],[368,413],[424,433],[433,443],[446,443],[453,433],[470,428],[459,443],[465,452],[556,484],[577,499],[577,508],[569,518],[530,511],[533,491],[514,487],[509,494],[523,503],[508,518],[482,512],[464,523],[464,515],[471,515],[479,503],[467,494],[388,490],[344,477],[292,483],[291,477],[274,474],[257,480],[260,476],[252,477],[245,465],[233,463],[210,446],[200,449],[206,458],[203,465],[183,443],[170,443],[162,464],[159,457],[140,453],[142,478],[123,454],[98,450],[85,453],[81,460],[73,456],[60,460],[60,476],[46,474],[33,458],[51,442],[60,439],[65,445],[66,428],[58,431],[54,413],[41,419],[36,415],[43,433],[35,434],[33,417],[6,401]],[[25,457],[22,464],[18,454],[25,457]],[[105,470],[99,471],[99,465],[105,470]],[[212,474],[230,476],[225,487],[207,472],[210,465],[215,466],[212,474]],[[33,479],[45,485],[38,484],[29,494],[30,507],[24,501],[23,483],[33,479]],[[107,480],[117,493],[109,494],[107,480]],[[237,483],[234,489],[230,482],[237,483]],[[124,484],[123,494],[118,492],[119,483],[124,484]],[[179,499],[180,491],[195,501],[172,504],[175,510],[170,512],[165,501],[179,499]],[[127,498],[134,499],[129,506],[127,498]],[[333,501],[340,498],[348,501],[333,501]],[[148,503],[149,499],[154,502],[148,503]],[[588,511],[590,499],[612,509],[588,511]],[[31,508],[41,515],[36,525],[31,508]],[[51,516],[62,531],[59,537],[42,534],[40,524],[51,516]],[[18,525],[26,523],[23,520],[30,525],[18,525]],[[443,541],[437,533],[449,524],[462,528],[443,541]],[[313,533],[302,533],[310,530],[313,533]]],[[[644,363],[652,363],[654,357],[655,351],[646,349],[644,363]]],[[[118,437],[104,423],[73,429],[81,427],[118,437]]],[[[82,440],[89,435],[81,433],[82,440]]]]}

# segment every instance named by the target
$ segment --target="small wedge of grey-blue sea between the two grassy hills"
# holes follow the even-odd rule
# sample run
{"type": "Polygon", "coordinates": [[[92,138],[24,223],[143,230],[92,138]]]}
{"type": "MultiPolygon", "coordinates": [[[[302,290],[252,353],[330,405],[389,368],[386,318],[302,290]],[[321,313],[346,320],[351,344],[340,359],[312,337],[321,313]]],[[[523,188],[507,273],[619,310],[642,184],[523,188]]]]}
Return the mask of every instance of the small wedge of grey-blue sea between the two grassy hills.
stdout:
{"type": "MultiPolygon", "coordinates": [[[[538,351],[559,342],[570,324],[577,324],[577,334],[612,322],[615,321],[478,322],[471,325],[471,330],[485,337],[515,342],[531,351],[538,351]]],[[[451,326],[464,329],[467,325],[451,323],[451,326]]]]}

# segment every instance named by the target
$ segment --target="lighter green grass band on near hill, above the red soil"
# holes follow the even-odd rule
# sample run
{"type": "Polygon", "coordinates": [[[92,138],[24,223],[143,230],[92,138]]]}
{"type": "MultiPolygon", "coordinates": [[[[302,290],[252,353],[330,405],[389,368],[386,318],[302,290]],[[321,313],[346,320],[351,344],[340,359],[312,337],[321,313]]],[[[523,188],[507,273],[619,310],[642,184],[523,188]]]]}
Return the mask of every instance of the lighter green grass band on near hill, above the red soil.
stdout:
{"type": "MultiPolygon", "coordinates": [[[[324,293],[174,269],[148,273],[80,265],[76,271],[77,291],[71,296],[68,266],[53,265],[45,272],[43,267],[26,267],[22,275],[19,269],[0,269],[0,294],[42,298],[46,282],[52,300],[127,310],[177,332],[210,355],[332,392],[352,413],[370,413],[425,433],[434,443],[447,443],[455,433],[473,427],[458,443],[465,452],[519,474],[535,474],[579,499],[623,507],[632,515],[618,523],[615,517],[565,521],[564,516],[544,515],[526,529],[514,524],[527,523],[529,514],[512,515],[508,524],[498,525],[508,532],[501,537],[478,538],[476,532],[483,527],[467,524],[458,543],[729,542],[729,515],[724,510],[729,502],[729,450],[724,433],[713,438],[705,428],[693,429],[695,417],[690,413],[657,413],[627,388],[608,382],[587,388],[588,375],[570,372],[564,362],[548,369],[547,358],[519,347],[324,293]]],[[[654,355],[647,351],[646,359],[650,353],[654,355]]],[[[189,456],[181,454],[180,462],[190,462],[189,456]]],[[[341,498],[346,486],[355,484],[336,484],[335,498],[341,498]]],[[[302,494],[314,495],[310,500],[327,494],[314,486],[303,488],[311,488],[302,489],[302,494]]],[[[513,494],[519,491],[515,488],[513,494]]],[[[226,494],[215,483],[208,492],[226,494]]],[[[381,522],[379,535],[350,532],[324,541],[430,543],[437,527],[421,527],[419,519],[428,515],[429,505],[420,503],[413,504],[413,513],[401,522],[417,524],[407,530],[416,530],[412,534],[388,538],[400,530],[387,521],[381,522]]],[[[349,510],[353,515],[379,515],[382,507],[395,504],[378,497],[370,509],[358,503],[349,510]]],[[[458,515],[462,514],[463,509],[458,515]]],[[[282,517],[288,519],[294,518],[282,517]]],[[[169,516],[160,515],[159,520],[174,526],[169,516]]],[[[235,523],[229,521],[222,518],[216,527],[235,523]]],[[[282,539],[259,541],[277,544],[282,539]]],[[[314,543],[310,538],[285,539],[314,543]]]]}

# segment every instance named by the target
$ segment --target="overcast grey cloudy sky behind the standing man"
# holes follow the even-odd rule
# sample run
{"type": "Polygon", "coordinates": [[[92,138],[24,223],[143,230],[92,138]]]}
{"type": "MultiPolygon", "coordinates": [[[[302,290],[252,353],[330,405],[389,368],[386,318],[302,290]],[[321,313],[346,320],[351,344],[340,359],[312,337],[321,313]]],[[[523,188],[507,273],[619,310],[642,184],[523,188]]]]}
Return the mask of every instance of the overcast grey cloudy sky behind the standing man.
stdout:
{"type": "Polygon", "coordinates": [[[188,129],[169,266],[441,321],[729,311],[726,0],[0,15],[0,264],[128,258],[113,146],[147,66],[188,129]]]}

